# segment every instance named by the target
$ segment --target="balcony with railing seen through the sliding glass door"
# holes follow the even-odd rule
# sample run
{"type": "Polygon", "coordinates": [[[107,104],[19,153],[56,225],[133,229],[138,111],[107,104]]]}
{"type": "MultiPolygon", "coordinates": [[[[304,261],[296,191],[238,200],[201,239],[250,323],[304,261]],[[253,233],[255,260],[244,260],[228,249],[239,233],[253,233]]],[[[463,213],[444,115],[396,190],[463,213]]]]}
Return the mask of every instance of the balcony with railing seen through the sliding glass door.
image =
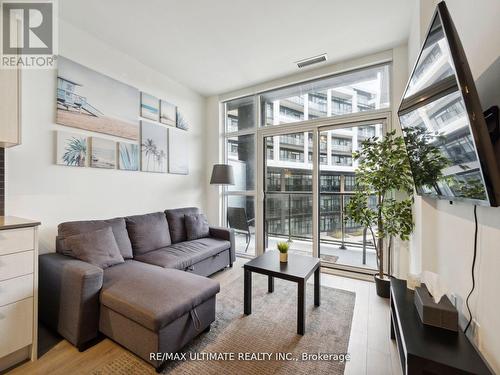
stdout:
{"type": "MultiPolygon", "coordinates": [[[[370,232],[344,222],[344,206],[352,194],[320,193],[320,256],[325,262],[376,269],[370,232]]],[[[312,193],[267,192],[265,202],[266,248],[276,248],[279,241],[292,241],[291,252],[312,255],[312,193]]],[[[244,242],[244,238],[236,241],[244,242]]],[[[255,254],[254,238],[247,254],[255,254]]]]}

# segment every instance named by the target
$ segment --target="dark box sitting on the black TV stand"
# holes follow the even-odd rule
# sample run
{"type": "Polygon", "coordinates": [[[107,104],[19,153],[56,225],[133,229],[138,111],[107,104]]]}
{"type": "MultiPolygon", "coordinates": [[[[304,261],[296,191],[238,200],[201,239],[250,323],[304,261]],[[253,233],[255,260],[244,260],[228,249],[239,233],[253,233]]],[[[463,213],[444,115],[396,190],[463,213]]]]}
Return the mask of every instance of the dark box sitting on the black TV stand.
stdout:
{"type": "Polygon", "coordinates": [[[422,284],[415,288],[414,300],[422,323],[449,331],[458,331],[458,312],[446,295],[439,303],[436,303],[425,284],[422,284]]]}

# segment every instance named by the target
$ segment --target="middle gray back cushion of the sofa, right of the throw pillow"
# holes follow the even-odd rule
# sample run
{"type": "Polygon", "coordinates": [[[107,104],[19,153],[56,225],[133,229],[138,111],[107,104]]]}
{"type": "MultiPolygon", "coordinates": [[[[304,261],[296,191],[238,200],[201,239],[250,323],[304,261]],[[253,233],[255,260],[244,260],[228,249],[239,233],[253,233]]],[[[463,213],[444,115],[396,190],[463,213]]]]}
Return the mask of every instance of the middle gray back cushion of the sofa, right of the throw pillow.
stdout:
{"type": "Polygon", "coordinates": [[[125,218],[134,256],[170,245],[170,232],[163,212],[125,218]]]}

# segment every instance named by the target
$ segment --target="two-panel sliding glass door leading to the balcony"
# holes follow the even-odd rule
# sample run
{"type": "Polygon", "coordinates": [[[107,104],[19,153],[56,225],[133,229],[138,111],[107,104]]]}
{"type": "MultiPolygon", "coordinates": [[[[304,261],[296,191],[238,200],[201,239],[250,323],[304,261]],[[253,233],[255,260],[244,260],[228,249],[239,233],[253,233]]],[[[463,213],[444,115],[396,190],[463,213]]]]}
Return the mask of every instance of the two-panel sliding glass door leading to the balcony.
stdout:
{"type": "MultiPolygon", "coordinates": [[[[339,122],[259,138],[264,250],[288,241],[291,252],[318,256],[325,266],[361,272],[377,268],[370,228],[348,220],[345,207],[356,191],[353,152],[363,140],[382,137],[386,122],[339,122]]],[[[375,207],[374,196],[370,203],[375,207]]]]}

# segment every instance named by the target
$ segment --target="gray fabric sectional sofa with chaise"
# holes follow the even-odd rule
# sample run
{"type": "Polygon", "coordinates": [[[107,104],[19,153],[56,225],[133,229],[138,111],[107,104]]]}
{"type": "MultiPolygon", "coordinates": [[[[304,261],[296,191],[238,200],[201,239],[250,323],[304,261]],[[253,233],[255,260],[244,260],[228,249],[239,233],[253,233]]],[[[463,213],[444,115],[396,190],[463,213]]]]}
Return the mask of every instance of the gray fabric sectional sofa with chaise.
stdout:
{"type": "Polygon", "coordinates": [[[185,218],[197,213],[190,207],[60,224],[56,253],[39,258],[41,321],[80,350],[102,333],[161,369],[150,353],[176,352],[210,329],[219,283],[205,276],[235,261],[230,229],[209,227],[188,240],[185,218]],[[121,263],[101,268],[76,259],[68,239],[103,228],[111,228],[121,263]]]}

